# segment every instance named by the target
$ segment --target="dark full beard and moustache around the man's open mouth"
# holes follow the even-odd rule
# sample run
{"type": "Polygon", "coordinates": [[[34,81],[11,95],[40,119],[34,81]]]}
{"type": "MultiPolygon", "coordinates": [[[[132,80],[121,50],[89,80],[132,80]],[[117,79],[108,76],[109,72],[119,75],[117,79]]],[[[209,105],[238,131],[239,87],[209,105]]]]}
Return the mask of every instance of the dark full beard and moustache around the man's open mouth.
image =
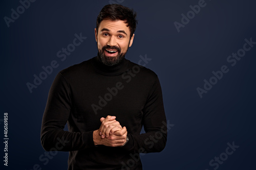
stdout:
{"type": "MultiPolygon", "coordinates": [[[[127,51],[128,51],[128,48],[127,48],[127,51]]],[[[109,45],[103,46],[101,48],[101,50],[98,48],[99,57],[100,57],[102,63],[107,65],[107,66],[113,66],[113,65],[119,64],[124,59],[125,54],[127,53],[127,51],[125,53],[121,53],[121,49],[119,47],[117,47],[117,46],[109,46],[109,45]],[[105,55],[105,50],[106,49],[117,50],[117,55],[114,56],[114,57],[106,56],[105,55]]]]}

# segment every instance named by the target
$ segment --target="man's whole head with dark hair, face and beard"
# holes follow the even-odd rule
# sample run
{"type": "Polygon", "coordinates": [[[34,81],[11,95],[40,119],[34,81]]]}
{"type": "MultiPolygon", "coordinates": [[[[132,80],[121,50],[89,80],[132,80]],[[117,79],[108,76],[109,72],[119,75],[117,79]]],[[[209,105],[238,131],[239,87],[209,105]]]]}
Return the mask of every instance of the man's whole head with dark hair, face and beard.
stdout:
{"type": "Polygon", "coordinates": [[[97,17],[95,38],[105,65],[116,65],[132,46],[137,25],[136,13],[121,5],[106,5],[97,17]]]}

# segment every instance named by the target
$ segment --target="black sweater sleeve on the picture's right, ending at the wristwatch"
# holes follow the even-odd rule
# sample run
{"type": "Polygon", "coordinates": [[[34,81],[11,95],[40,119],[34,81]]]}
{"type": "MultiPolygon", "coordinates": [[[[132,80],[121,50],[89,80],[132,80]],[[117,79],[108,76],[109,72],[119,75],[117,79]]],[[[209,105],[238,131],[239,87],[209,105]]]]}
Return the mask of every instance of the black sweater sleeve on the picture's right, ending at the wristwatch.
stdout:
{"type": "Polygon", "coordinates": [[[148,93],[143,109],[142,123],[146,133],[140,135],[128,134],[130,140],[123,148],[135,153],[161,152],[167,141],[167,127],[162,90],[158,77],[156,77],[148,93]]]}

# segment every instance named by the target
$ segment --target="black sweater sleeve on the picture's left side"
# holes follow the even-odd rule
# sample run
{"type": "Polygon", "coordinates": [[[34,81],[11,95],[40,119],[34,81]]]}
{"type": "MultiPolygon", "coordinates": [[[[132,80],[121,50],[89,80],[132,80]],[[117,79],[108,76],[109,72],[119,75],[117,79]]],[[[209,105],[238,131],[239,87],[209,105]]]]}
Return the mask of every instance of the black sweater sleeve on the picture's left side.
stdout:
{"type": "Polygon", "coordinates": [[[72,111],[71,89],[59,73],[50,88],[41,125],[41,144],[46,151],[77,151],[94,147],[93,131],[64,131],[72,111]]]}

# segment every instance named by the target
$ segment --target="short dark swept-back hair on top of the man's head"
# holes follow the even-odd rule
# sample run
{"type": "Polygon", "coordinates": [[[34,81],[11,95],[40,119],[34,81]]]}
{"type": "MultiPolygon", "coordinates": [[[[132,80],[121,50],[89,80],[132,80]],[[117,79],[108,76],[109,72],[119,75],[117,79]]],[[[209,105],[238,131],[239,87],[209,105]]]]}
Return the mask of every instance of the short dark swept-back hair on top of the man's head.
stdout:
{"type": "Polygon", "coordinates": [[[104,19],[125,20],[125,23],[127,23],[128,27],[130,27],[130,32],[131,32],[130,38],[132,38],[136,30],[136,25],[138,23],[138,21],[136,20],[136,16],[137,16],[136,12],[122,5],[119,5],[119,4],[106,5],[101,9],[97,17],[97,25],[96,25],[97,33],[98,33],[100,22],[104,19]]]}

